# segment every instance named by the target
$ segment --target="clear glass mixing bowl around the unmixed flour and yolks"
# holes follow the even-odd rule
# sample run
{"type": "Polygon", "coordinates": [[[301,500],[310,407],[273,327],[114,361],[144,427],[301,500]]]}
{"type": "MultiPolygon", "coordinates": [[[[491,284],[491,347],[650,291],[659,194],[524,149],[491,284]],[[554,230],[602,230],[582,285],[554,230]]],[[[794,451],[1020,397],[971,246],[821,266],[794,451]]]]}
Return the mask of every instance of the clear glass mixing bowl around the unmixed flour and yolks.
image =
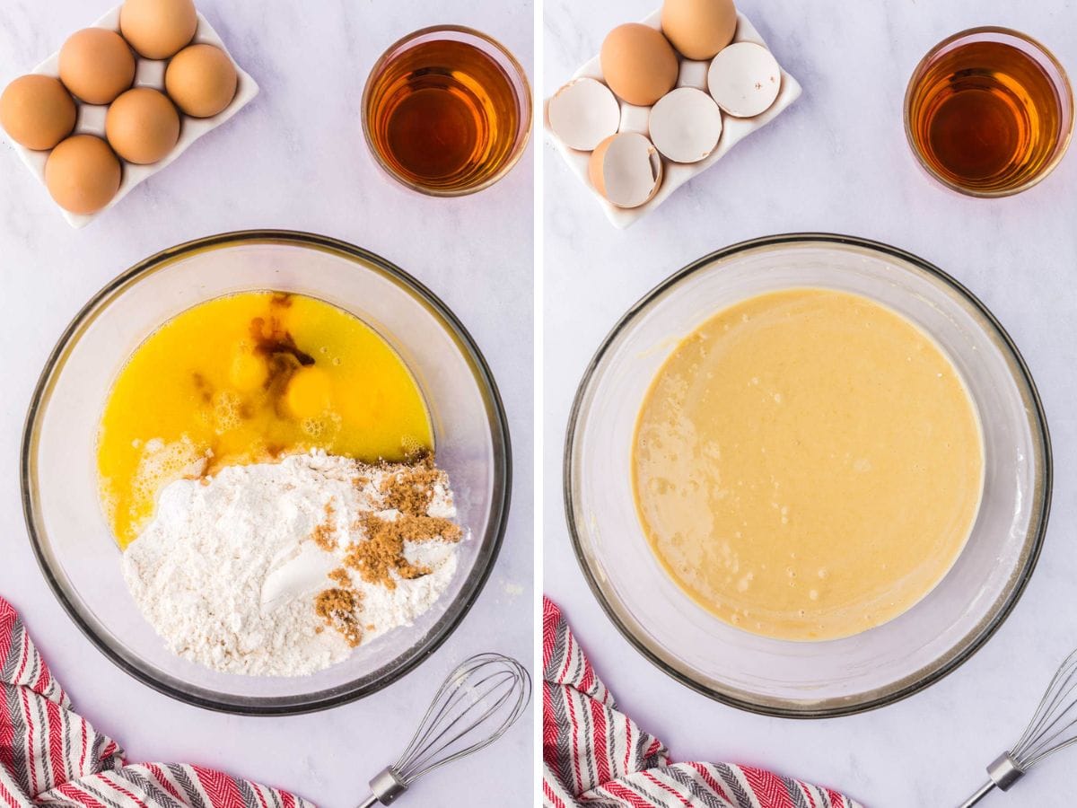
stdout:
{"type": "Polygon", "coordinates": [[[324,236],[227,233],[146,259],[112,281],[64,332],[34,390],[23,437],[23,504],[41,569],[71,618],[121,668],[199,707],[284,714],[369,695],[425,659],[460,624],[501,546],[509,498],[508,428],[490,371],[429,290],[366,250],[324,236]],[[131,352],[171,317],[225,294],[279,290],[352,312],[400,353],[422,390],[438,464],[460,521],[451,585],[415,625],[309,677],[219,673],[172,655],[135,605],[98,499],[96,436],[106,395],[131,352]]]}

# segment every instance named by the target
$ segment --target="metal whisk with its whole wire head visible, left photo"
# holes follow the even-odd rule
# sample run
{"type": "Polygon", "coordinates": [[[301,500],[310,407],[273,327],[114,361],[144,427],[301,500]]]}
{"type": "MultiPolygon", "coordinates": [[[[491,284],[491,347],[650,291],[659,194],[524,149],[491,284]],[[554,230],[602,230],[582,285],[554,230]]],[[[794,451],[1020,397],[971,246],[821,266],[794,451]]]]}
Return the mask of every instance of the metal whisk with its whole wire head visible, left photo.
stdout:
{"type": "Polygon", "coordinates": [[[423,775],[493,743],[523,714],[531,675],[515,659],[477,654],[449,673],[404,754],[370,780],[359,808],[390,805],[423,775]]]}

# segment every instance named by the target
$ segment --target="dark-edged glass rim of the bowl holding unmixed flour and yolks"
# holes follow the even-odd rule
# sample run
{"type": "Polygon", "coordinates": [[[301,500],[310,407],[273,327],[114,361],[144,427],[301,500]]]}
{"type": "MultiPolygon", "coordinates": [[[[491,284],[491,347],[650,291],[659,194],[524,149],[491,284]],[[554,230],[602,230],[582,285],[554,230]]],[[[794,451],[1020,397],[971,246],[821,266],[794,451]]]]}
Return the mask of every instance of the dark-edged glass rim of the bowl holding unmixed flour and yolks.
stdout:
{"type": "Polygon", "coordinates": [[[456,631],[467,612],[475,604],[479,594],[482,591],[487,580],[496,562],[502,543],[504,541],[505,528],[508,520],[509,501],[512,496],[512,445],[508,433],[508,420],[505,415],[504,404],[496,382],[490,372],[486,359],[475,344],[471,334],[463,323],[452,314],[452,311],[431,292],[426,287],[401,269],[398,266],[380,255],[365,250],[355,245],[342,241],[330,236],[322,236],[304,231],[290,229],[247,229],[230,233],[221,233],[213,236],[185,241],[170,247],[166,250],[150,255],[149,257],[135,264],[132,267],[116,276],[100,291],[98,291],[89,302],[75,315],[74,319],[64,330],[56,347],[53,348],[45,361],[45,366],[34,386],[30,398],[30,405],[27,409],[26,421],[23,427],[23,438],[19,451],[19,488],[23,500],[23,516],[26,521],[27,533],[30,545],[33,548],[38,567],[44,575],[53,595],[60,602],[71,621],[85,635],[90,643],[100,651],[116,667],[142,682],[149,687],[166,696],[182,701],[194,707],[199,707],[216,712],[232,713],[236,715],[296,715],[302,713],[318,712],[334,707],[355,701],[369,696],[378,691],[388,687],[403,677],[410,673],[415,668],[430,658],[438,647],[456,631]],[[477,575],[471,584],[470,590],[464,589],[458,596],[456,602],[449,607],[446,615],[442,618],[442,628],[428,636],[425,641],[414,649],[411,658],[389,675],[382,677],[364,686],[356,686],[354,683],[313,694],[313,698],[302,697],[295,702],[284,703],[282,699],[260,700],[244,699],[242,703],[238,699],[214,699],[187,693],[183,689],[157,680],[152,674],[127,661],[124,656],[114,650],[104,638],[100,637],[94,629],[93,618],[87,618],[79,605],[79,597],[74,591],[69,591],[66,583],[54,574],[48,565],[45,552],[42,546],[41,535],[37,525],[37,515],[33,504],[33,483],[31,475],[31,461],[34,452],[38,417],[43,412],[43,406],[47,404],[51,394],[53,380],[60,368],[61,363],[68,352],[72,339],[78,339],[82,330],[96,315],[103,309],[111,297],[123,289],[126,289],[143,278],[154,274],[159,269],[168,267],[177,261],[190,257],[191,255],[211,250],[227,249],[241,245],[265,245],[280,243],[306,249],[313,249],[328,252],[338,257],[345,259],[352,264],[359,265],[364,270],[375,270],[381,273],[392,282],[404,288],[416,299],[428,307],[442,321],[453,340],[459,345],[465,354],[475,374],[482,398],[491,407],[490,420],[492,429],[492,444],[494,452],[494,479],[501,480],[500,491],[493,493],[493,505],[490,513],[489,523],[482,538],[487,543],[487,548],[476,561],[475,570],[477,575]],[[103,305],[102,305],[103,304],[103,305]],[[492,537],[492,541],[488,539],[492,537]]]}

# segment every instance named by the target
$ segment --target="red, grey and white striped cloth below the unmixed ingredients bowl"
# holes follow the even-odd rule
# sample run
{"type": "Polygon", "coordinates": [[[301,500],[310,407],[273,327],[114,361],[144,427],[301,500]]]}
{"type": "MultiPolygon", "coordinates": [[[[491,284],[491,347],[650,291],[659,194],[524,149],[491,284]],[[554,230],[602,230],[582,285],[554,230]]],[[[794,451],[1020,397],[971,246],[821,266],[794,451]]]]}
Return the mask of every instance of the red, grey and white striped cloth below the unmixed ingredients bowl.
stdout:
{"type": "Polygon", "coordinates": [[[313,808],[200,766],[128,765],[71,709],[11,604],[0,598],[0,806],[10,808],[313,808]]]}

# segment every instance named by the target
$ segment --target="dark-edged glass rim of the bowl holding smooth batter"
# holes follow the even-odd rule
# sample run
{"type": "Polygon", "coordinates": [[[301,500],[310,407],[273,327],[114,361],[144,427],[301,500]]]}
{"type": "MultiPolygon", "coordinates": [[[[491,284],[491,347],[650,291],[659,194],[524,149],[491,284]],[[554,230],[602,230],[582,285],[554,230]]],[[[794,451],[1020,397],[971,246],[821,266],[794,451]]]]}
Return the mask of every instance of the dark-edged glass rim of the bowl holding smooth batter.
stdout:
{"type": "MultiPolygon", "coordinates": [[[[1027,365],[1024,362],[1024,358],[1018,350],[1017,345],[1010,338],[1009,334],[1003,328],[1002,323],[995,318],[991,310],[983,305],[983,303],[976,297],[968,289],[966,289],[959,280],[953,278],[948,273],[943,271],[934,264],[924,261],[923,259],[914,255],[913,253],[907,252],[905,250],[898,249],[896,247],[891,247],[890,245],[883,243],[881,241],[873,241],[866,238],[861,238],[858,236],[847,236],[835,233],[785,233],[772,236],[764,236],[760,238],[750,239],[746,241],[740,241],[729,247],[716,250],[708,255],[704,255],[693,263],[688,264],[684,268],[677,270],[673,275],[666,278],[658,285],[653,288],[643,297],[641,297],[637,303],[634,303],[628,311],[617,321],[610,333],[605,336],[600,345],[599,349],[595,352],[591,361],[587,365],[587,370],[584,372],[584,376],[579,381],[579,386],[576,389],[575,398],[572,402],[572,409],[569,414],[568,429],[565,431],[564,441],[564,452],[562,455],[562,496],[564,499],[564,516],[565,521],[569,527],[569,538],[572,542],[573,553],[576,556],[576,561],[579,563],[579,569],[584,573],[584,577],[587,580],[587,584],[591,589],[591,594],[595,599],[598,600],[599,605],[602,611],[605,612],[606,617],[614,624],[621,636],[629,642],[629,644],[635,649],[643,657],[655,665],[659,670],[661,670],[667,675],[679,681],[681,684],[686,685],[690,689],[700,693],[708,698],[714,699],[722,703],[728,705],[729,707],[735,707],[746,712],[756,713],[759,715],[771,715],[775,718],[784,719],[834,719],[845,715],[855,715],[863,712],[868,712],[870,710],[876,710],[880,707],[886,707],[887,705],[901,701],[929,687],[939,680],[946,678],[966,661],[973,657],[973,655],[987,644],[988,640],[994,637],[995,632],[1002,626],[1002,624],[1012,612],[1013,608],[1017,605],[1021,596],[1024,594],[1024,589],[1035,571],[1036,563],[1039,560],[1039,554],[1043,549],[1044,539],[1047,533],[1048,517],[1051,510],[1051,491],[1053,482],[1053,459],[1051,455],[1051,438],[1047,427],[1047,418],[1044,413],[1044,405],[1039,398],[1039,391],[1036,389],[1036,384],[1032,378],[1032,374],[1029,371],[1027,365]],[[961,653],[952,655],[943,665],[938,666],[936,669],[929,671],[923,678],[910,682],[905,687],[901,687],[893,693],[883,695],[881,697],[865,699],[857,702],[838,702],[831,706],[824,706],[813,709],[805,708],[783,708],[772,705],[764,705],[747,699],[738,698],[730,696],[729,694],[722,693],[719,691],[713,689],[705,685],[700,684],[694,680],[690,675],[683,673],[669,665],[667,665],[655,652],[653,652],[647,644],[637,637],[629,626],[618,616],[616,607],[611,603],[602,591],[595,572],[590,569],[587,563],[586,553],[583,546],[583,540],[577,530],[577,517],[576,517],[576,505],[573,497],[573,451],[575,447],[575,436],[576,431],[581,426],[579,418],[583,410],[584,401],[587,398],[588,389],[595,379],[596,373],[598,372],[599,365],[602,362],[606,351],[617,339],[620,333],[627,329],[632,322],[643,315],[654,303],[661,298],[667,292],[671,291],[681,281],[685,280],[688,276],[694,275],[697,271],[705,271],[711,269],[712,271],[721,271],[721,267],[712,267],[717,261],[723,261],[737,256],[740,253],[766,249],[766,248],[781,248],[784,246],[803,246],[808,243],[822,243],[822,245],[842,245],[851,246],[867,250],[869,252],[880,253],[885,257],[897,259],[899,261],[905,261],[919,269],[926,271],[929,275],[935,276],[941,280],[945,284],[949,285],[959,296],[963,297],[966,302],[973,305],[978,312],[980,312],[984,319],[990,323],[991,328],[994,329],[994,336],[997,337],[1001,347],[1004,350],[1010,352],[1012,359],[1018,368],[1020,368],[1020,376],[1018,377],[1019,382],[1023,382],[1027,386],[1027,390],[1031,400],[1034,404],[1034,413],[1030,414],[1030,421],[1033,424],[1033,438],[1040,443],[1044,468],[1043,468],[1043,486],[1041,486],[1041,497],[1039,503],[1037,503],[1034,509],[1035,518],[1030,526],[1030,532],[1033,533],[1032,538],[1032,548],[1029,553],[1027,560],[1024,568],[1020,570],[1018,575],[1013,579],[1010,584],[1010,589],[1007,595],[1005,602],[1002,607],[991,615],[991,618],[987,626],[980,631],[979,636],[976,637],[973,642],[970,642],[961,653]]],[[[967,639],[963,638],[963,639],[967,639]]]]}

